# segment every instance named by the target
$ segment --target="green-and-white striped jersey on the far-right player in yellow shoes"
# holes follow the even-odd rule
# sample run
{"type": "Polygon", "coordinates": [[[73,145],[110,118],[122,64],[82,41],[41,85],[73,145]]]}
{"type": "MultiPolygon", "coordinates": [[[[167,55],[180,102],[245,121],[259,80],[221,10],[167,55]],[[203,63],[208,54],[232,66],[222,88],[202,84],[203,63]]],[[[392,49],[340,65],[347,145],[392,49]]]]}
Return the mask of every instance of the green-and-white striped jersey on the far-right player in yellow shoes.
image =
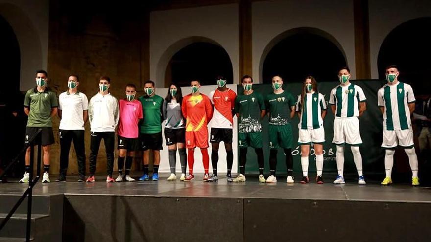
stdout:
{"type": "Polygon", "coordinates": [[[383,127],[386,130],[407,130],[411,127],[409,103],[415,102],[413,89],[407,83],[384,85],[377,92],[377,103],[384,107],[383,127]]]}

